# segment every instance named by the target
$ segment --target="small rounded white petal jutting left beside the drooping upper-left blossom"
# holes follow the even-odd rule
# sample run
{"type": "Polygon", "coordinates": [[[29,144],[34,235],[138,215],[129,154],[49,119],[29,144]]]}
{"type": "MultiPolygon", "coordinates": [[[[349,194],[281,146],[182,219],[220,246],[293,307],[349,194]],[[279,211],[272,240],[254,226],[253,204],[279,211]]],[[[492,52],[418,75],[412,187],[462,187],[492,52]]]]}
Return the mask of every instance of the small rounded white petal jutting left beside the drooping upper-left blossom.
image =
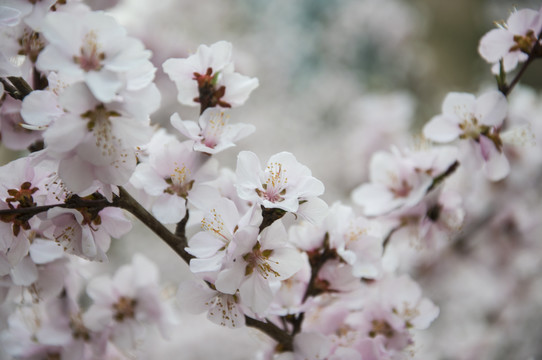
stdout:
{"type": "Polygon", "coordinates": [[[58,105],[57,96],[51,91],[36,90],[25,96],[21,116],[27,124],[45,126],[64,112],[58,105]]]}

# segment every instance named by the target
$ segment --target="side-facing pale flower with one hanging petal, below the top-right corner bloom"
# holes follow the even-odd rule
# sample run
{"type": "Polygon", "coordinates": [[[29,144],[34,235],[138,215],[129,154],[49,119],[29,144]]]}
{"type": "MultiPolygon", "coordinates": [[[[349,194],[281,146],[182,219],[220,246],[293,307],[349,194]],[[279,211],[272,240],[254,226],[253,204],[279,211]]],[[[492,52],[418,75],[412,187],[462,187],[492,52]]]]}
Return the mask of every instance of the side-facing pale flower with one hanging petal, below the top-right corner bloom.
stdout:
{"type": "Polygon", "coordinates": [[[510,165],[503,151],[500,131],[508,103],[498,91],[476,98],[467,93],[449,93],[442,103],[442,114],[434,116],[423,128],[424,136],[446,143],[469,139],[484,174],[492,181],[503,179],[510,165]]]}

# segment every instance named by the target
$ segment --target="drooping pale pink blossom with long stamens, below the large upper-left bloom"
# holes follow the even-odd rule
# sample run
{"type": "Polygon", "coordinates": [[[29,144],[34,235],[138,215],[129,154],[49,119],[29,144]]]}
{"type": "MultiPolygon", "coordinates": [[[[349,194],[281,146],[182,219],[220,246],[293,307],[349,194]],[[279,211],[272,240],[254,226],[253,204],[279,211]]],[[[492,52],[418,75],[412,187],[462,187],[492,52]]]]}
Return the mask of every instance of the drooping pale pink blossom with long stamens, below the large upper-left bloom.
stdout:
{"type": "Polygon", "coordinates": [[[66,187],[83,193],[95,188],[96,180],[127,183],[135,170],[136,147],[150,139],[149,113],[137,112],[140,105],[130,102],[103,104],[82,83],[62,92],[59,102],[65,114],[49,125],[44,139],[66,187]]]}

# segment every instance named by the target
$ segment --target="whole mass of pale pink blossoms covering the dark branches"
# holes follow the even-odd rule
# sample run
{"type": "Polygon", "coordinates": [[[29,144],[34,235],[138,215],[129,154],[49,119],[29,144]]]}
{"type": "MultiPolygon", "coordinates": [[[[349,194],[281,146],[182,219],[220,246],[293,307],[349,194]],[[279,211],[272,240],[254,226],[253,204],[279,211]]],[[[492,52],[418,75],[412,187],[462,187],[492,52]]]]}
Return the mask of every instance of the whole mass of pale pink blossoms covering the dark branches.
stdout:
{"type": "Polygon", "coordinates": [[[174,335],[173,297],[147,257],[112,276],[86,271],[130,232],[126,212],[187,262],[177,305],[263,331],[262,358],[408,358],[441,310],[408,272],[424,259],[403,247],[438,260],[475,212],[462,181],[502,184],[514,163],[542,164],[517,146],[534,132],[515,121],[517,81],[505,78],[542,56],[540,11],[481,39],[498,90],[449,93],[418,144],[372,153],[368,181],[328,204],[291,152],[220,164],[255,131],[235,108],[259,82],[236,72],[231,43],[163,62],[178,103],[199,114],[160,128],[151,52],[112,16],[77,0],[0,9],[0,133],[28,149],[0,167],[0,343],[17,359],[133,358],[149,327],[174,335]]]}

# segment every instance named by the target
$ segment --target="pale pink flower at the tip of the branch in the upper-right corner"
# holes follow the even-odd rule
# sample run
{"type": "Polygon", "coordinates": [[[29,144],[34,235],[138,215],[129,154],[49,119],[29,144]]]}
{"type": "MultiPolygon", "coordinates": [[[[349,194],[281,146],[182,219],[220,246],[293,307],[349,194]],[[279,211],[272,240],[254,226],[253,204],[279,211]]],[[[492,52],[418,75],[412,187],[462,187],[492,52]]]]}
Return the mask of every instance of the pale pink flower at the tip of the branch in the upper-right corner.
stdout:
{"type": "Polygon", "coordinates": [[[539,41],[542,30],[540,11],[521,9],[514,11],[506,23],[493,29],[480,39],[478,51],[489,63],[494,64],[491,71],[500,72],[502,60],[504,72],[514,70],[518,63],[529,57],[534,45],[539,41]]]}

